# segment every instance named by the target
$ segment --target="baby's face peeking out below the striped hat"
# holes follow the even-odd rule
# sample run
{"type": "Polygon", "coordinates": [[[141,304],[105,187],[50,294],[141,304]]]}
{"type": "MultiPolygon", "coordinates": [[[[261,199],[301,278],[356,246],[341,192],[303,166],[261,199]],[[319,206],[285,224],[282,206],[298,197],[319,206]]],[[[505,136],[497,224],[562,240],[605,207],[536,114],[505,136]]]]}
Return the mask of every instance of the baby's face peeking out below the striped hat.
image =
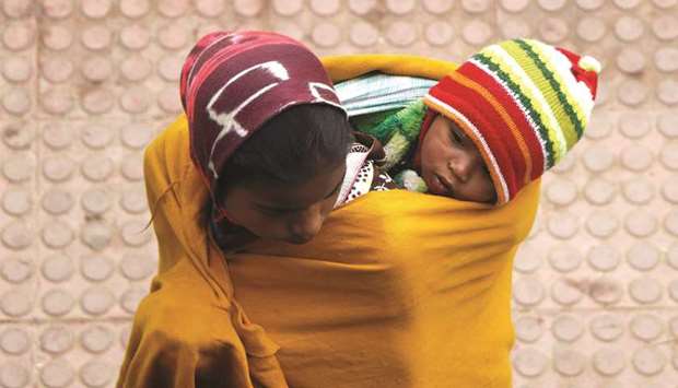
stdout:
{"type": "Polygon", "coordinates": [[[496,201],[492,178],[474,141],[443,115],[437,115],[423,139],[421,175],[434,195],[461,201],[496,201]]]}

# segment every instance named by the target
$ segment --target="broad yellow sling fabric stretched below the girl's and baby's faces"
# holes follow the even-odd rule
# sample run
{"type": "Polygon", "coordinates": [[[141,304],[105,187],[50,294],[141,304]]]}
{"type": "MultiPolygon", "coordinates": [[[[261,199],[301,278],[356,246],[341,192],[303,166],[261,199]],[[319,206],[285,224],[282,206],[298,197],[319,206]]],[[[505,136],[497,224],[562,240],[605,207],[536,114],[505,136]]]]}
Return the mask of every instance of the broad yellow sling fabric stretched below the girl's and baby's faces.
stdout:
{"type": "Polygon", "coordinates": [[[235,295],[291,387],[510,387],[512,259],[538,197],[371,192],[304,246],[231,256],[235,295]]]}

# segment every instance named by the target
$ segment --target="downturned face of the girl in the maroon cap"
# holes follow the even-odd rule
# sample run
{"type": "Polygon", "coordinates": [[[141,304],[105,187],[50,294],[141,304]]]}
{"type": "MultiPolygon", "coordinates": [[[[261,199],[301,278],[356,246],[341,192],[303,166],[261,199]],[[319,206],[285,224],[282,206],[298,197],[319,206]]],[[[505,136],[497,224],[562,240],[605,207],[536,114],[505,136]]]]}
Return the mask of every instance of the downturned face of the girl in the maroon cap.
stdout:
{"type": "Polygon", "coordinates": [[[261,238],[307,243],[337,201],[346,163],[318,171],[303,184],[249,181],[233,187],[226,192],[224,210],[233,222],[261,238]]]}

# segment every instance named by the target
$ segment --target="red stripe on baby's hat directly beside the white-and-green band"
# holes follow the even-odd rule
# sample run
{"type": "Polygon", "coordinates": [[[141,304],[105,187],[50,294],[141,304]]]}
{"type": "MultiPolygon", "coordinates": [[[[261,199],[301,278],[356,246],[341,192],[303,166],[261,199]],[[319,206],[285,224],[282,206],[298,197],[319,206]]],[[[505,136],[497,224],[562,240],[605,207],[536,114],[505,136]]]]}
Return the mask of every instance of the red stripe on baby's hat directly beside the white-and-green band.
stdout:
{"type": "MultiPolygon", "coordinates": [[[[523,138],[523,141],[527,145],[529,157],[531,158],[531,171],[529,175],[529,180],[531,181],[539,178],[543,174],[543,151],[541,149],[541,143],[539,142],[539,138],[537,137],[535,129],[533,129],[529,121],[527,121],[526,113],[521,109],[515,98],[511,94],[508,94],[508,92],[502,84],[500,84],[494,78],[484,72],[482,69],[478,68],[472,62],[464,63],[464,66],[460,67],[457,71],[484,86],[494,96],[494,98],[496,98],[501,103],[502,108],[508,114],[508,116],[511,116],[511,119],[521,132],[519,136],[523,138]]],[[[511,138],[512,143],[510,144],[511,146],[513,146],[515,138],[510,133],[511,131],[507,128],[496,128],[496,130],[504,133],[506,139],[511,138]]],[[[525,172],[525,161],[519,150],[517,149],[517,144],[515,149],[510,150],[510,153],[513,154],[514,160],[522,160],[522,163],[514,163],[514,166],[516,171],[521,172],[521,174],[516,173],[516,176],[523,176],[525,172]]],[[[528,183],[523,183],[523,185],[526,184],[528,183]]]]}

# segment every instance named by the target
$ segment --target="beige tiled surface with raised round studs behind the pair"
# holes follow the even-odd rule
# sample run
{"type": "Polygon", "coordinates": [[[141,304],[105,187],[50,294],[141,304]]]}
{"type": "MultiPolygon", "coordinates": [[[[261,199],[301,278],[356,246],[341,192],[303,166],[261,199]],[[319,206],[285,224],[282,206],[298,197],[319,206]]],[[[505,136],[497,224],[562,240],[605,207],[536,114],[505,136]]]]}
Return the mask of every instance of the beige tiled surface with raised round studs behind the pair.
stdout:
{"type": "Polygon", "coordinates": [[[461,60],[598,57],[585,139],[515,266],[517,387],[677,387],[678,1],[0,0],[0,386],[110,387],[156,263],[143,146],[214,28],[461,60]]]}

